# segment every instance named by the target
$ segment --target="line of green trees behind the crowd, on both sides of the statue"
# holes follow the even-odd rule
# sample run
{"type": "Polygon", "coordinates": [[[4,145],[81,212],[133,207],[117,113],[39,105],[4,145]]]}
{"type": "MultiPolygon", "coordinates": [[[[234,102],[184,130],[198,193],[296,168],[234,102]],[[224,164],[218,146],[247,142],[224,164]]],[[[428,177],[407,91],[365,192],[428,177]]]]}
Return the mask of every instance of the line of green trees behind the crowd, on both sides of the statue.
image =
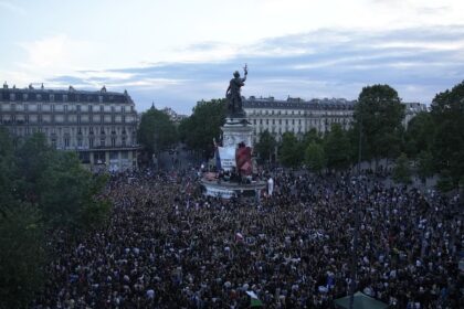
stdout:
{"type": "MultiPolygon", "coordinates": [[[[414,162],[423,180],[439,174],[440,185],[449,190],[464,181],[463,104],[464,82],[437,94],[431,111],[416,115],[405,130],[402,125],[404,105],[397,90],[389,85],[367,86],[359,94],[349,130],[334,124],[325,135],[310,130],[297,138],[285,132],[278,145],[272,134],[264,131],[255,152],[262,161],[270,161],[278,149],[277,158],[283,166],[305,164],[315,172],[344,170],[356,164],[359,158],[373,162],[376,169],[381,159],[389,162],[401,158],[400,162],[407,162],[402,163],[405,168],[414,162]]],[[[166,114],[151,108],[141,117],[138,136],[151,152],[180,140],[208,158],[213,153],[212,140],[219,140],[224,121],[224,99],[199,102],[177,130],[166,114]]],[[[403,177],[399,180],[408,181],[403,177]]]]}

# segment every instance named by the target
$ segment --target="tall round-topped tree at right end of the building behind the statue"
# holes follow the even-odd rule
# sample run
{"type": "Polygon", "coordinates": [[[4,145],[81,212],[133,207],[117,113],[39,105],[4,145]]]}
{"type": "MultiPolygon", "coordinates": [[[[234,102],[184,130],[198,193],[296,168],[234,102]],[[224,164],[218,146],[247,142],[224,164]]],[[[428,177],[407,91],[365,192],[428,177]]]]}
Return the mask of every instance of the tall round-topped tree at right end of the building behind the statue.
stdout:
{"type": "Polygon", "coordinates": [[[354,131],[359,131],[361,126],[365,159],[376,159],[377,163],[392,147],[398,146],[394,136],[401,131],[403,118],[404,106],[392,87],[373,85],[362,88],[355,105],[354,131]]]}

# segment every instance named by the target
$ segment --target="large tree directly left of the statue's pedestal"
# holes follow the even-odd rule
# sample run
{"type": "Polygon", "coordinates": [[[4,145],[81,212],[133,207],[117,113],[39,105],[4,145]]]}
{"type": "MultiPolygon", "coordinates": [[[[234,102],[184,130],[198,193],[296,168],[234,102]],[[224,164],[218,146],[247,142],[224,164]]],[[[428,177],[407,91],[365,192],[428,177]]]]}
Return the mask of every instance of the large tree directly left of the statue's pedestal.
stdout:
{"type": "Polygon", "coordinates": [[[192,115],[179,125],[179,135],[193,150],[213,152],[213,138],[219,140],[221,126],[225,122],[225,99],[201,100],[192,115]]]}

